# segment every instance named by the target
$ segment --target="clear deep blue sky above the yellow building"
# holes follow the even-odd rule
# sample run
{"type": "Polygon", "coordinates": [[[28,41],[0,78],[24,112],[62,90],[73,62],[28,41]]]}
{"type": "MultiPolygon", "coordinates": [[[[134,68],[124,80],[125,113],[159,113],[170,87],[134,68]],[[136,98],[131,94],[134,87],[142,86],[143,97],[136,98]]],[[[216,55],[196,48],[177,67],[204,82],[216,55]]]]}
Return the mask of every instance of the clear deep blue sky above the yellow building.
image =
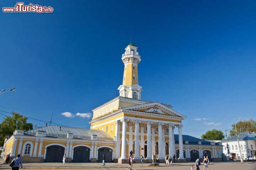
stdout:
{"type": "Polygon", "coordinates": [[[255,119],[255,1],[23,2],[54,12],[0,12],[0,88],[17,89],[0,96],[0,110],[89,128],[90,118],[61,113],[91,113],[119,95],[133,36],[142,100],[186,115],[183,134],[255,119]]]}

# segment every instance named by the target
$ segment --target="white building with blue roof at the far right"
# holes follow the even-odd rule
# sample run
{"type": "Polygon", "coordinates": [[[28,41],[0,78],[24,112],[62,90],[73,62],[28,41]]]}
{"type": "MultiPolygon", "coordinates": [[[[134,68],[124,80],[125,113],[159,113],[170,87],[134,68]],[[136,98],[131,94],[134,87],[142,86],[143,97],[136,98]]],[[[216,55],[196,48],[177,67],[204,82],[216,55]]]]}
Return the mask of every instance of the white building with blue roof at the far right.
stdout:
{"type": "MultiPolygon", "coordinates": [[[[248,156],[254,156],[256,153],[256,134],[254,132],[242,132],[238,134],[238,140],[241,148],[242,158],[247,160],[248,156]]],[[[222,141],[223,153],[228,158],[228,149],[226,148],[226,139],[222,141]]],[[[228,138],[230,157],[233,159],[240,159],[239,145],[236,136],[228,138]]]]}

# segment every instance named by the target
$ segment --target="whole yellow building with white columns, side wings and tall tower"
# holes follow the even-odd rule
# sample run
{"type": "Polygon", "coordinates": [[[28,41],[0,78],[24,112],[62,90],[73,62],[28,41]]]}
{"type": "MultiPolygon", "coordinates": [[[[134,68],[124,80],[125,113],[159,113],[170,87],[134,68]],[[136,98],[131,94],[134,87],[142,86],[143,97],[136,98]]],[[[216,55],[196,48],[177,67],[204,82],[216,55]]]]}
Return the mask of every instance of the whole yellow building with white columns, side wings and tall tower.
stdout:
{"type": "MultiPolygon", "coordinates": [[[[189,135],[182,135],[184,115],[169,104],[142,100],[138,84],[138,47],[129,44],[122,55],[123,83],[119,96],[92,110],[90,129],[46,126],[24,132],[16,130],[5,142],[4,155],[21,154],[23,162],[127,163],[130,151],[134,162],[164,162],[166,155],[176,155],[177,162],[195,161],[208,155],[222,160],[222,146],[189,135]],[[174,134],[175,128],[178,134],[174,134]],[[181,152],[182,151],[182,152],[181,152]]],[[[4,156],[5,158],[5,156],[4,156]]]]}

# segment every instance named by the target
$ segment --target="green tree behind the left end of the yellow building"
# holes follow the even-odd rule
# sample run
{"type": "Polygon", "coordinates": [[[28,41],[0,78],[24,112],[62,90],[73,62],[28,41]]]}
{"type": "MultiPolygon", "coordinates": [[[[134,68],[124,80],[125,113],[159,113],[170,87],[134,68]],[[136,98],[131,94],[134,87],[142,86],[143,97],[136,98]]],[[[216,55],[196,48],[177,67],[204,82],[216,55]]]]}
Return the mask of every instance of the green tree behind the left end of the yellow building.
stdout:
{"type": "Polygon", "coordinates": [[[19,113],[12,112],[12,117],[6,117],[0,124],[0,146],[4,145],[5,138],[9,138],[13,135],[16,129],[32,130],[33,124],[27,123],[27,118],[23,117],[19,113]]]}

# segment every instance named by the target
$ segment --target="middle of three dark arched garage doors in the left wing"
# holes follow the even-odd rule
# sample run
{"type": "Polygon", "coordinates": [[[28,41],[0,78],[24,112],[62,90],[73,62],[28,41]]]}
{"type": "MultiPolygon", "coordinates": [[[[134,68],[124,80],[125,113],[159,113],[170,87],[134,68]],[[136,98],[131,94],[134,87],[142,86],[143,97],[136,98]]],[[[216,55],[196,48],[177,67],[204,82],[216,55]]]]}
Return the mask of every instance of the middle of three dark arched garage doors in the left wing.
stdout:
{"type": "Polygon", "coordinates": [[[90,148],[85,146],[75,147],[73,162],[90,162],[90,148]]]}

